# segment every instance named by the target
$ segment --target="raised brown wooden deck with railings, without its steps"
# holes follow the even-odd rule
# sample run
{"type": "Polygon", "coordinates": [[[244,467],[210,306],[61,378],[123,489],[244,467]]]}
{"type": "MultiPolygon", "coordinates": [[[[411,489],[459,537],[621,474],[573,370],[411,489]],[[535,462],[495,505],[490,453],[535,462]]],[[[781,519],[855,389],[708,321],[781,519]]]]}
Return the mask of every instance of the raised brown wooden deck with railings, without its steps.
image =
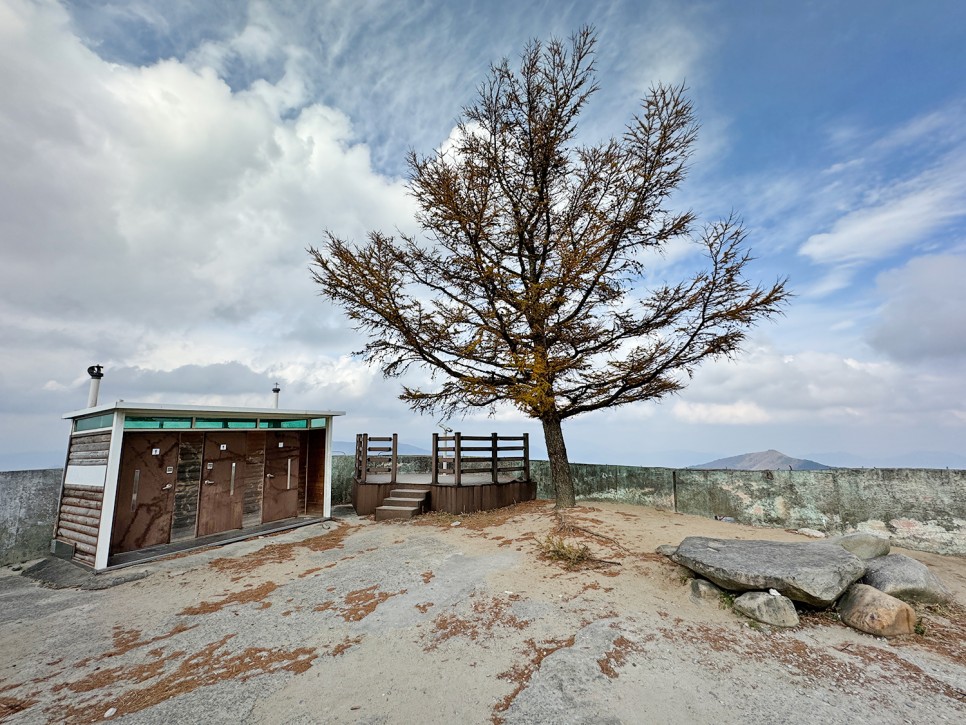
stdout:
{"type": "Polygon", "coordinates": [[[488,511],[537,497],[530,479],[529,441],[523,436],[433,436],[430,470],[399,470],[398,436],[356,436],[352,505],[360,516],[377,513],[394,490],[428,492],[427,511],[488,511]]]}

